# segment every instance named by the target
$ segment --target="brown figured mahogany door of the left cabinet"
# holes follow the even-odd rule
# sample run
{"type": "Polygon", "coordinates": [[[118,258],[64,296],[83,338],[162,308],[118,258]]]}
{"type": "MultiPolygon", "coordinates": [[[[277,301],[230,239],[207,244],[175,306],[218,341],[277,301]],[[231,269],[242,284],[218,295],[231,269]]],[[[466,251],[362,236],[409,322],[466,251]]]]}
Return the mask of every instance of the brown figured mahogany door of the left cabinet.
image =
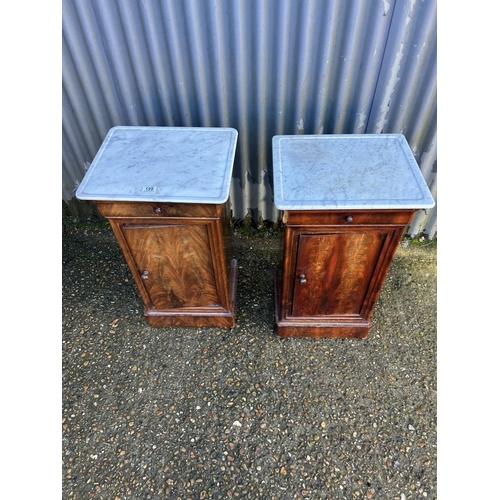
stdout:
{"type": "Polygon", "coordinates": [[[122,231],[156,309],[220,305],[207,224],[124,224],[122,231]]]}

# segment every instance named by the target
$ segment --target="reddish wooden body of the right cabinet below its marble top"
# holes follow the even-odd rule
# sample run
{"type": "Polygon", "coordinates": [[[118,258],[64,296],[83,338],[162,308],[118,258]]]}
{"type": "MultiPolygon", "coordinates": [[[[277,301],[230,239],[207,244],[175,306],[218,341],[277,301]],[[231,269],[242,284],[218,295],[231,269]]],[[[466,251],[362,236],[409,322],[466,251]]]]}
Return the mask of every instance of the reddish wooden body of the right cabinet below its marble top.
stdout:
{"type": "Polygon", "coordinates": [[[278,334],[366,337],[392,257],[413,214],[285,212],[282,266],[275,277],[278,334]]]}

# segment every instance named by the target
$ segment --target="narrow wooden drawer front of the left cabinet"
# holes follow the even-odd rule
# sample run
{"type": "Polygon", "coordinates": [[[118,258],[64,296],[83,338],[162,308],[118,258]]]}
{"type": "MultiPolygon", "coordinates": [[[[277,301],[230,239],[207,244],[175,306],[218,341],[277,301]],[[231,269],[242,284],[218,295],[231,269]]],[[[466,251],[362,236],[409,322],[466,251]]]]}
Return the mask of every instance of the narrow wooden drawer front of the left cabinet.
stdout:
{"type": "Polygon", "coordinates": [[[198,203],[155,203],[96,201],[104,217],[218,217],[220,205],[198,203]]]}

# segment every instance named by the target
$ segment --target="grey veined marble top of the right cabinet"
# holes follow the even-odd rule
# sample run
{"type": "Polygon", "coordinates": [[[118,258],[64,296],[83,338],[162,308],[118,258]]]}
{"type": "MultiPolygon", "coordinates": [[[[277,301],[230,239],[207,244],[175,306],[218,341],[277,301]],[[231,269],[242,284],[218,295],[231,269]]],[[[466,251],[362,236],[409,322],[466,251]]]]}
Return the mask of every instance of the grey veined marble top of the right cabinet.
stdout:
{"type": "Polygon", "coordinates": [[[280,210],[434,206],[402,134],[277,135],[273,172],[280,210]]]}

